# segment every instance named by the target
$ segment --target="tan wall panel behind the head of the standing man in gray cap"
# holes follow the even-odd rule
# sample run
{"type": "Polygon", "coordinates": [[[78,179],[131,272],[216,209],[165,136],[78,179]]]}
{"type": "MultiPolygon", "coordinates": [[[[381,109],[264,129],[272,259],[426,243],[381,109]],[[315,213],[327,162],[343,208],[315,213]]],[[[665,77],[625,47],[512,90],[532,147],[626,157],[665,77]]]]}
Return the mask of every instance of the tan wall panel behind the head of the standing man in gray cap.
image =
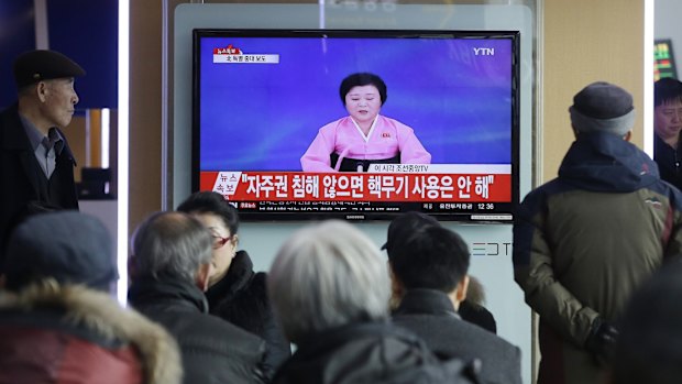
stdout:
{"type": "Polygon", "coordinates": [[[632,94],[638,111],[632,141],[641,147],[644,1],[544,0],[542,180],[556,177],[573,142],[568,112],[573,95],[592,81],[614,83],[632,94]]]}

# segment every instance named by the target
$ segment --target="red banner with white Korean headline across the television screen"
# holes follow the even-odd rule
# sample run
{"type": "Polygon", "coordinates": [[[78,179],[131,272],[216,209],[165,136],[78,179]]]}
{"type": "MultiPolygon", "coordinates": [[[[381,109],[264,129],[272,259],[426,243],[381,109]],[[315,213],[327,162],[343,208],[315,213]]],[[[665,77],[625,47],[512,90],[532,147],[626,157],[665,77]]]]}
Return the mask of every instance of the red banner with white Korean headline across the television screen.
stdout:
{"type": "Polygon", "coordinates": [[[512,174],[508,166],[504,165],[439,167],[388,164],[373,165],[370,171],[372,172],[202,172],[200,188],[218,191],[232,201],[512,200],[512,174]]]}

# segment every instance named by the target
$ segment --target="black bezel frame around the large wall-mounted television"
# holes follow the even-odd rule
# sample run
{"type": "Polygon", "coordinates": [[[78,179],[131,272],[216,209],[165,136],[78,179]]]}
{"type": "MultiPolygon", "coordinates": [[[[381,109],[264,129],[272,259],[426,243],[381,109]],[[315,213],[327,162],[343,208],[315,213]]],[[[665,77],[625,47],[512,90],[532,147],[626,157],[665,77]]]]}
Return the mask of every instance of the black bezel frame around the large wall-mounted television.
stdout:
{"type": "MultiPolygon", "coordinates": [[[[512,40],[512,200],[506,210],[438,212],[424,210],[421,206],[429,201],[391,202],[399,205],[400,210],[391,212],[267,212],[244,211],[238,208],[243,221],[307,221],[322,219],[344,219],[352,221],[387,221],[411,210],[422,211],[441,221],[465,223],[502,223],[513,222],[514,208],[520,201],[520,32],[519,31],[483,31],[483,30],[309,30],[309,29],[194,29],[193,30],[193,70],[191,70],[191,193],[200,190],[200,40],[202,37],[389,37],[389,39],[509,39],[512,40]],[[481,215],[483,219],[473,219],[481,215]],[[505,217],[501,219],[501,217],[505,217]]],[[[239,201],[241,202],[241,201],[239,201]]],[[[433,201],[438,202],[438,201],[433,201]]],[[[472,202],[477,204],[477,202],[472,202]]],[[[496,202],[499,204],[499,202],[496,202]]],[[[381,206],[381,204],[375,205],[381,206]]]]}

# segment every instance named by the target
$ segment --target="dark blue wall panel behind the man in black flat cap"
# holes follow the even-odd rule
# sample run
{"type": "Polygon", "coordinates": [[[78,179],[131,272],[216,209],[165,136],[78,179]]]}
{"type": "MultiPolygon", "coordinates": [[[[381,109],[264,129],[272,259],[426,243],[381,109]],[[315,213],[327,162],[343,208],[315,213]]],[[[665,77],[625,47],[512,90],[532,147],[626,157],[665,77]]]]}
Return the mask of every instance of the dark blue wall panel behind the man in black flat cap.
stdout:
{"type": "MultiPolygon", "coordinates": [[[[76,81],[80,101],[77,112],[88,108],[117,108],[118,98],[118,1],[47,0],[51,50],[75,59],[87,72],[76,81]]],[[[33,0],[0,1],[0,108],[16,99],[12,63],[20,53],[36,48],[36,9],[33,0]]]]}

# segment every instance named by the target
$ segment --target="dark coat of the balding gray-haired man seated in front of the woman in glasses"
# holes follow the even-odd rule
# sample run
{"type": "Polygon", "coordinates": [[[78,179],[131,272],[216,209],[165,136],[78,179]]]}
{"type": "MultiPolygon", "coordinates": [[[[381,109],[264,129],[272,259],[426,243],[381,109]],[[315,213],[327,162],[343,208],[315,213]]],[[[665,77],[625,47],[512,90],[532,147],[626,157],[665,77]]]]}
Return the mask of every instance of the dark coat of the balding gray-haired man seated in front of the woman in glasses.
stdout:
{"type": "Polygon", "coordinates": [[[133,307],[175,337],[186,384],[262,383],[265,342],[208,314],[204,293],[188,283],[138,278],[128,293],[133,307]]]}

